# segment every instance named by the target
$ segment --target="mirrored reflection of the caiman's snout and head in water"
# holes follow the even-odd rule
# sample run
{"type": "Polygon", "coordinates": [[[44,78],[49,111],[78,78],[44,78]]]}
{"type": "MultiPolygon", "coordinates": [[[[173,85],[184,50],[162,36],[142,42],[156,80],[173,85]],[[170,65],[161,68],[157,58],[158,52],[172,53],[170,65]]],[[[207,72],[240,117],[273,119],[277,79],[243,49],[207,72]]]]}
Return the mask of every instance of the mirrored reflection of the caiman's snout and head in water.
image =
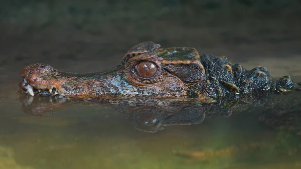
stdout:
{"type": "Polygon", "coordinates": [[[20,94],[22,108],[26,114],[45,117],[55,109],[78,104],[99,105],[122,113],[137,130],[154,133],[170,125],[199,124],[206,114],[209,116],[230,116],[236,104],[202,103],[200,101],[179,99],[127,99],[106,100],[101,103],[85,103],[66,98],[47,98],[20,94]]]}

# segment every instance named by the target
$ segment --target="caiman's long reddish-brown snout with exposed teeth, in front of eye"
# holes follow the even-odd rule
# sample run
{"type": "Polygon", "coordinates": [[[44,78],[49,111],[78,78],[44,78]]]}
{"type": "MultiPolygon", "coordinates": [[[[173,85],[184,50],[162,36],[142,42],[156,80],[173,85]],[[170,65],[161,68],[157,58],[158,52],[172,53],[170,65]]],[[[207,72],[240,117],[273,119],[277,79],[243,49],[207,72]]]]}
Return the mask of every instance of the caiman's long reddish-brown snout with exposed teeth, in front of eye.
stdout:
{"type": "Polygon", "coordinates": [[[21,76],[23,80],[19,87],[24,93],[32,96],[59,95],[79,99],[120,94],[122,81],[118,71],[76,74],[61,72],[42,63],[25,67],[21,76]]]}

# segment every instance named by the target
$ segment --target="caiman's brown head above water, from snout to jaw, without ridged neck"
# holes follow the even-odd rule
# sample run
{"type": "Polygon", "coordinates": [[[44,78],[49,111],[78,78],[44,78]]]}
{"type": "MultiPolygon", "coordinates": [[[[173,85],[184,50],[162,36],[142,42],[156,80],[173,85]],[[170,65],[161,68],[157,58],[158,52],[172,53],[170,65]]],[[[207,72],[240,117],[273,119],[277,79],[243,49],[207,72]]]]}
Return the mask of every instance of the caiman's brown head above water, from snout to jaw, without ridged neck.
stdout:
{"type": "Polygon", "coordinates": [[[36,63],[22,70],[20,90],[30,95],[98,98],[195,98],[205,93],[192,90],[200,85],[205,69],[194,48],[167,48],[153,42],[133,46],[110,72],[75,74],[36,63]]]}

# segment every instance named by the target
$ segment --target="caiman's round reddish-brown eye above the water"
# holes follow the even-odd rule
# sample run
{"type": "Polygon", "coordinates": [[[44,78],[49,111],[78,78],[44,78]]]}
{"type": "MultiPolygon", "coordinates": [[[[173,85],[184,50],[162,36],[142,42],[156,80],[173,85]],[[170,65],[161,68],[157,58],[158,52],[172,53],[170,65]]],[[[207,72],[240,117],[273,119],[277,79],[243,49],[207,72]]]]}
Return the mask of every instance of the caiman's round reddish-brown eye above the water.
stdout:
{"type": "Polygon", "coordinates": [[[141,62],[135,67],[137,75],[142,78],[150,78],[157,72],[157,66],[153,62],[141,62]]]}

